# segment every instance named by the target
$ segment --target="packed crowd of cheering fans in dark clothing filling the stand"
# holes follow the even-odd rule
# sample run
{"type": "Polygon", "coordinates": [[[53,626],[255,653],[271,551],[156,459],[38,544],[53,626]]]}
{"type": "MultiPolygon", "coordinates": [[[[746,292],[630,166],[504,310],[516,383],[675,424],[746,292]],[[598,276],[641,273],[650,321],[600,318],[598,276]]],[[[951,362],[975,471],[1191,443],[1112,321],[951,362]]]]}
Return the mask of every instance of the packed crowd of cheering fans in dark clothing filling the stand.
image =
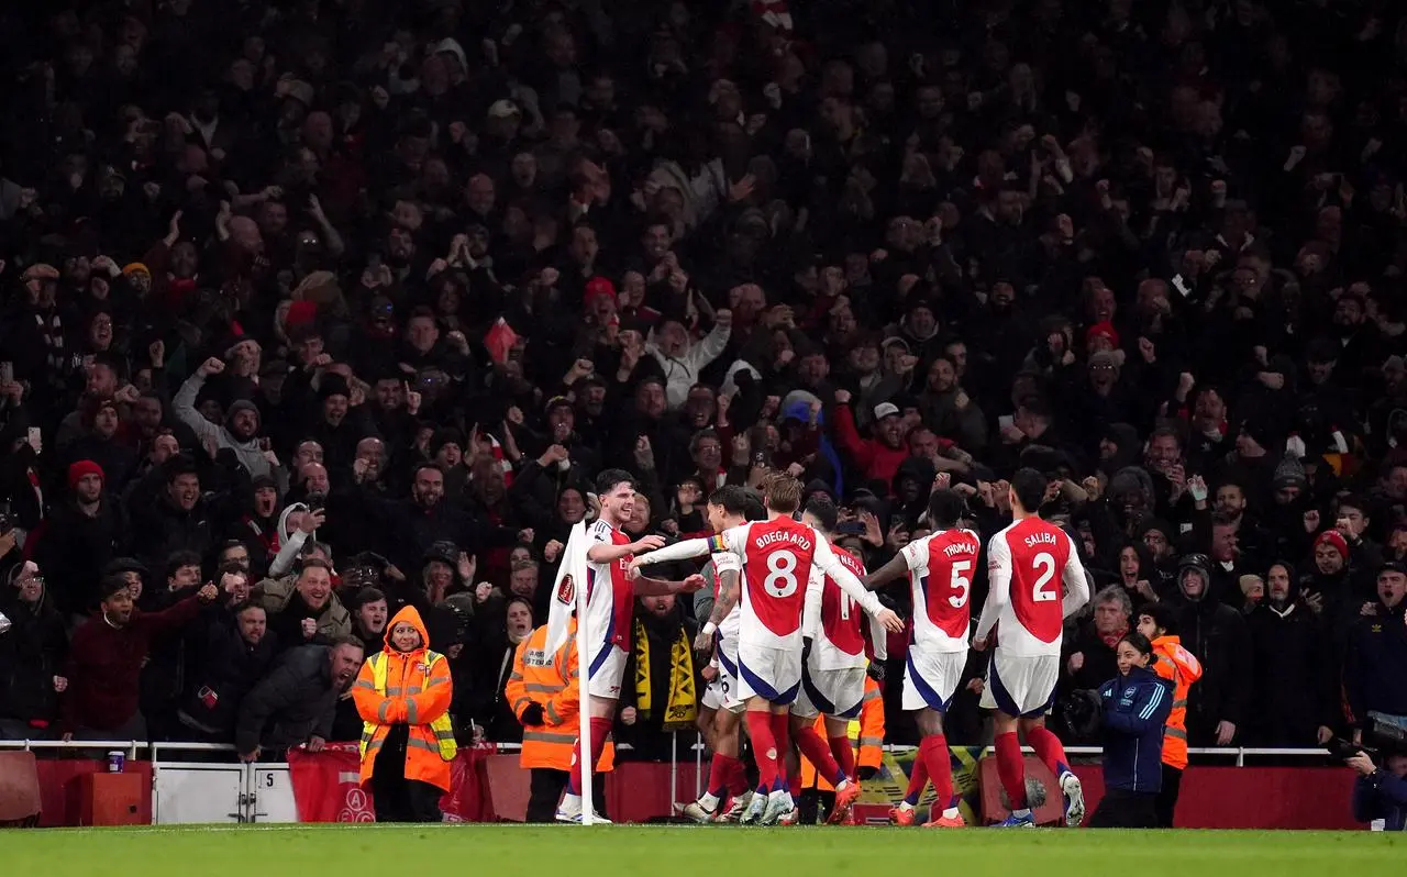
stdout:
{"type": "Polygon", "coordinates": [[[411,604],[512,740],[606,465],[668,536],[792,472],[871,569],[1034,466],[1068,735],[1152,600],[1193,746],[1407,717],[1404,11],[3,4],[0,736],[355,739],[305,695],[411,604]]]}

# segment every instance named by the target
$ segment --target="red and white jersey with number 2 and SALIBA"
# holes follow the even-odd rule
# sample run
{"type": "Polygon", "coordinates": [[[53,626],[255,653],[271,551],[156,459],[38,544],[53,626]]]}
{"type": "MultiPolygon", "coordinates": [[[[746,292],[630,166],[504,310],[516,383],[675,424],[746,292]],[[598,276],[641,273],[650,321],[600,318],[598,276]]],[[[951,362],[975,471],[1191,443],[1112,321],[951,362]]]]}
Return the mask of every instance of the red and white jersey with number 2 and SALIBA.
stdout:
{"type": "Polygon", "coordinates": [[[1009,655],[1059,655],[1065,617],[1089,601],[1085,567],[1065,531],[1034,515],[1016,521],[992,536],[986,570],[991,590],[976,635],[998,625],[996,645],[1009,655]]]}

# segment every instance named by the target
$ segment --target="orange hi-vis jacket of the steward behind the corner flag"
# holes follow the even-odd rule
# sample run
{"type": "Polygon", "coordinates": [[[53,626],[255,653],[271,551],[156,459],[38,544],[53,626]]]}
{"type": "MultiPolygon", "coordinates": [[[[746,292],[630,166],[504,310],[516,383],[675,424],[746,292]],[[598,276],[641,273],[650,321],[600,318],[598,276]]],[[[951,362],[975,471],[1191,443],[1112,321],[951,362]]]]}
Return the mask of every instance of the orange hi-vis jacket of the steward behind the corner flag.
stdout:
{"type": "MultiPolygon", "coordinates": [[[[571,626],[575,631],[575,622],[571,626]]],[[[522,721],[523,709],[542,704],[542,725],[523,725],[519,764],[525,769],[571,770],[581,714],[581,679],[577,671],[577,641],[568,636],[556,655],[547,655],[547,625],[518,643],[514,671],[504,686],[504,698],[522,721]]],[[[615,747],[606,742],[595,773],[615,767],[615,747]]]]}

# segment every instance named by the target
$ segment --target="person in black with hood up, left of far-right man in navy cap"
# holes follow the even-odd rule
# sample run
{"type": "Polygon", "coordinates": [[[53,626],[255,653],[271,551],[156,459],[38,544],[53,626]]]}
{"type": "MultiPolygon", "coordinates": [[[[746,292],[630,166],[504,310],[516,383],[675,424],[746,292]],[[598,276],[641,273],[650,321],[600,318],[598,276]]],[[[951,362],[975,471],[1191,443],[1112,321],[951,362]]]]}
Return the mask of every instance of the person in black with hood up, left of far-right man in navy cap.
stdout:
{"type": "Polygon", "coordinates": [[[1334,735],[1337,660],[1328,625],[1300,597],[1294,569],[1272,563],[1265,600],[1247,618],[1254,656],[1251,746],[1323,746],[1334,735]]]}

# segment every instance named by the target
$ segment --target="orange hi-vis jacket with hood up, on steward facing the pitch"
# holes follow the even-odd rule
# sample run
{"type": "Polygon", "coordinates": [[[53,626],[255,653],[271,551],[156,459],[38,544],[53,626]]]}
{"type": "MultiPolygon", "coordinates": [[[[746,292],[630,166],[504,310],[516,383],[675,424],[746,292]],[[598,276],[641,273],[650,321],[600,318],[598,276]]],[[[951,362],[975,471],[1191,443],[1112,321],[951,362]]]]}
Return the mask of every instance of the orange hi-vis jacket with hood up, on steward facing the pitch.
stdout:
{"type": "Polygon", "coordinates": [[[393,725],[409,725],[405,743],[405,778],[421,780],[449,791],[450,769],[459,747],[449,705],[454,697],[449,660],[426,648],[397,652],[391,645],[395,625],[408,622],[428,643],[429,635],[415,607],[405,607],[386,625],[386,650],[366,659],[352,698],[364,722],[362,726],[362,783],[376,771],[386,735],[393,725]]]}

